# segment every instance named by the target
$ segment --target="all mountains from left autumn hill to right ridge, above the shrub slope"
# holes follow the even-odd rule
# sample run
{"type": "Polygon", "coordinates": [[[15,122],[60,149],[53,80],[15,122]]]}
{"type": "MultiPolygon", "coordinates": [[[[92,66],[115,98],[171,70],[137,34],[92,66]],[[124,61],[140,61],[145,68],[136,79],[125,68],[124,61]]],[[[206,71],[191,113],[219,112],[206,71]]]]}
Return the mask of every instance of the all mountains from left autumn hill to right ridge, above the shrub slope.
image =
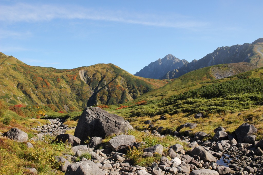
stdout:
{"type": "Polygon", "coordinates": [[[30,66],[0,52],[0,99],[9,105],[45,104],[72,112],[92,105],[168,98],[262,66],[263,38],[252,44],[219,47],[190,63],[169,54],[135,74],[159,79],[134,76],[113,64],[70,70],[30,66]]]}

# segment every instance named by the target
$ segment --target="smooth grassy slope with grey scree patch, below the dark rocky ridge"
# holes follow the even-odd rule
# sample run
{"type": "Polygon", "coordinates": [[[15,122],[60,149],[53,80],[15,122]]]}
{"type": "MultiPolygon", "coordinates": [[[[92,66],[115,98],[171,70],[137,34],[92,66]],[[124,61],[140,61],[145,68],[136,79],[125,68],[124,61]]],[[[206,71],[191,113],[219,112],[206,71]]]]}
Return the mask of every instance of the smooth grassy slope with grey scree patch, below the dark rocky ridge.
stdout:
{"type": "Polygon", "coordinates": [[[186,91],[189,91],[190,89],[195,89],[203,85],[210,84],[207,83],[208,81],[229,77],[241,72],[250,71],[255,68],[257,68],[256,65],[244,62],[221,64],[201,68],[188,72],[181,77],[174,79],[172,82],[166,84],[161,88],[154,89],[148,93],[145,93],[137,98],[135,101],[168,98],[172,95],[184,93],[186,91]]]}

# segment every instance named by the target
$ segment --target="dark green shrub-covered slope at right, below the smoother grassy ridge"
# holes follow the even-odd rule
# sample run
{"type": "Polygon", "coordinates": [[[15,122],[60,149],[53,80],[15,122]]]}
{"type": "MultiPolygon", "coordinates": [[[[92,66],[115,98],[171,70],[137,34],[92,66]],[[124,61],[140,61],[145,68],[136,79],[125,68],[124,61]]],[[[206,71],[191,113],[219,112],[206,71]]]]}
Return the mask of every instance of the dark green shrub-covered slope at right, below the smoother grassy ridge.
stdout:
{"type": "MultiPolygon", "coordinates": [[[[205,72],[204,70],[211,70],[211,67],[202,70],[205,72]]],[[[212,80],[209,81],[203,80],[199,84],[195,83],[190,90],[184,90],[183,93],[171,95],[169,98],[156,100],[143,100],[142,98],[143,103],[142,101],[130,102],[125,104],[126,108],[119,110],[112,108],[112,112],[130,118],[130,120],[135,120],[140,116],[165,114],[183,113],[185,116],[191,116],[203,113],[208,116],[209,114],[240,112],[263,105],[262,78],[263,67],[228,78],[218,80],[211,78],[212,80]]],[[[188,81],[191,79],[189,78],[188,81]]],[[[174,82],[176,80],[172,83],[174,82]]]]}

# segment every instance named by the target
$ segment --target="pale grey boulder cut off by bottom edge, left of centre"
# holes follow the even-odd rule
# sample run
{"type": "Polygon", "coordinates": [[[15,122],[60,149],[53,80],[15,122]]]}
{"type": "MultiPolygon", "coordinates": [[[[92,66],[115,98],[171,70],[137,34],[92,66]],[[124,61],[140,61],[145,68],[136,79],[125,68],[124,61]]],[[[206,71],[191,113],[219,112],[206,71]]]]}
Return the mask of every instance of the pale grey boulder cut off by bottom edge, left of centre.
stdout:
{"type": "Polygon", "coordinates": [[[101,169],[92,161],[80,161],[72,163],[67,167],[65,175],[105,175],[101,169]]]}

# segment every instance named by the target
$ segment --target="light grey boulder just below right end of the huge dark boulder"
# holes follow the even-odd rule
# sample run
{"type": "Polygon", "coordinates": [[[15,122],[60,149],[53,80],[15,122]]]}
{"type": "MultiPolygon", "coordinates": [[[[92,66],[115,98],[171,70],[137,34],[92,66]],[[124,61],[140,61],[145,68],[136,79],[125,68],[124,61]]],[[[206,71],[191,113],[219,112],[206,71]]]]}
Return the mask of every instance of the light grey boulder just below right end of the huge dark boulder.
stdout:
{"type": "Polygon", "coordinates": [[[114,152],[125,152],[125,149],[133,145],[134,142],[136,142],[136,140],[133,135],[118,135],[110,139],[108,146],[114,152]]]}

